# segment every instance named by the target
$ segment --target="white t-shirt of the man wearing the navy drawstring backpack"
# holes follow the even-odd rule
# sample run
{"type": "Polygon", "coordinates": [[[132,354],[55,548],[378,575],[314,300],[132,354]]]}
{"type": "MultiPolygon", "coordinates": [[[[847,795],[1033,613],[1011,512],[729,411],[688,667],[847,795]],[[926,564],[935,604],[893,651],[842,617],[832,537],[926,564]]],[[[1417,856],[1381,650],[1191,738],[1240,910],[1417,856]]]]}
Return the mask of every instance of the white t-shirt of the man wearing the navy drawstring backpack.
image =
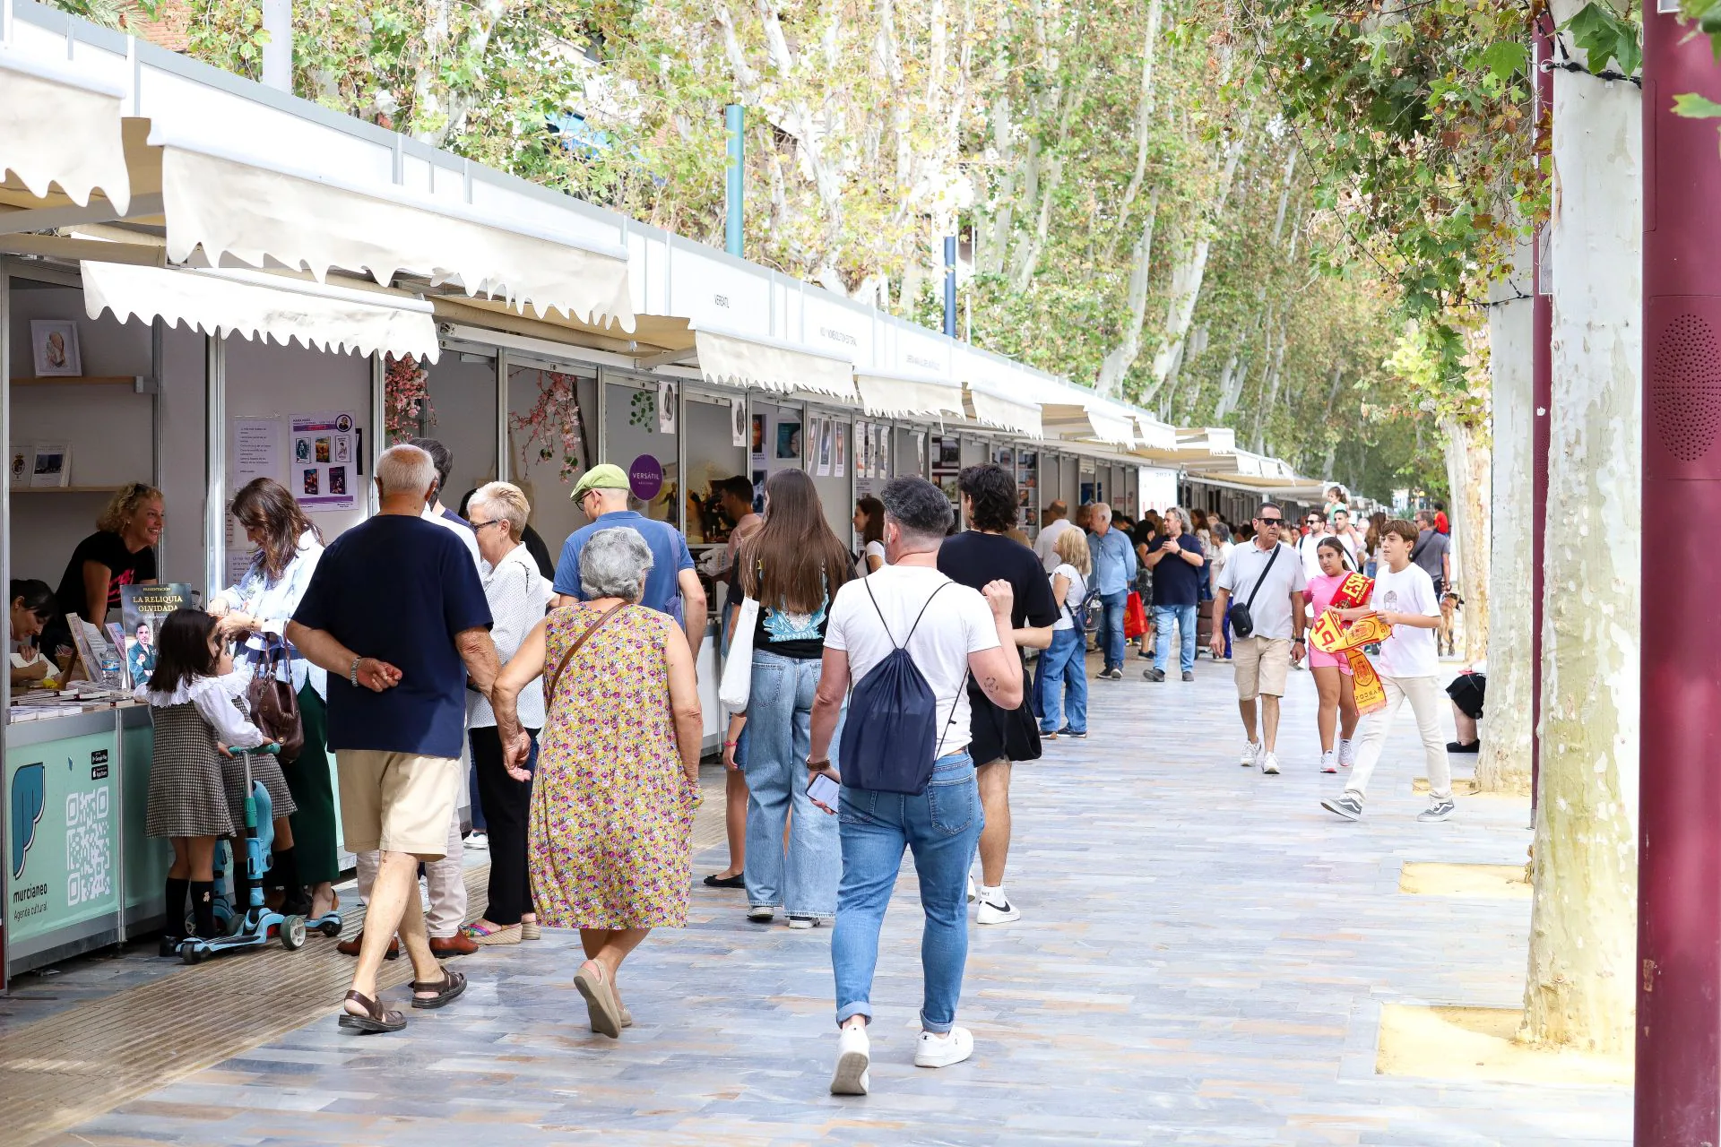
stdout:
{"type": "Polygon", "coordinates": [[[924,566],[885,566],[864,581],[850,581],[836,590],[824,629],[824,648],[848,653],[850,681],[860,681],[904,638],[909,657],[938,698],[938,753],[967,748],[969,703],[962,683],[967,678],[969,653],[998,648],[998,624],[991,619],[991,607],[979,590],[957,585],[924,566]],[[921,616],[933,590],[938,590],[938,600],[921,616]],[[917,626],[916,617],[921,617],[917,626]]]}

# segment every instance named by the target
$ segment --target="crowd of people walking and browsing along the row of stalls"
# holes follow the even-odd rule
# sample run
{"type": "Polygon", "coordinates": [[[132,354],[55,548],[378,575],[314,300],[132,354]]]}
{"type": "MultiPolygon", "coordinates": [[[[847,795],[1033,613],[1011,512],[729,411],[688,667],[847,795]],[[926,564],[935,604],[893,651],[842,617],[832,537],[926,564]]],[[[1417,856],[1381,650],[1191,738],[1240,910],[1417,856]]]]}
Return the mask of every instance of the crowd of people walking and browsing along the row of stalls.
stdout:
{"type": "MultiPolygon", "coordinates": [[[[365,929],[341,944],[356,958],[341,1027],[406,1025],[379,997],[384,960],[404,953],[411,1006],[434,1009],[466,989],[449,958],[552,927],[580,932],[575,987],[592,1030],[620,1037],[633,1023],[621,965],[652,929],[687,923],[707,583],[673,526],[630,507],[618,466],[594,466],[575,485],[589,524],[554,564],[530,543],[518,487],[492,481],[461,500],[461,514],[449,511],[441,494],[451,468],[434,440],[389,447],[375,473],[379,512],[329,545],[267,478],[234,499],[256,547],[246,576],[207,612],[167,619],[139,686],[157,726],[148,832],[174,848],[169,920],[186,917],[196,935],[219,927],[212,856],[243,824],[243,758],[286,739],[265,727],[281,714],[253,712],[248,688],[274,676],[296,710],[294,757],[286,767],[258,753],[248,762],[274,798],[268,884],[282,911],[315,918],[339,905],[332,751],[341,836],[367,901],[365,929]],[[384,600],[389,609],[377,609],[384,600]],[[487,905],[463,923],[463,851],[480,839],[487,905]]],[[[976,925],[1022,917],[1005,891],[1012,769],[1039,758],[1045,741],[1088,736],[1089,631],[1095,679],[1122,679],[1132,592],[1151,602],[1141,655],[1155,683],[1172,671],[1174,635],[1177,672],[1193,679],[1208,604],[1210,650],[1234,669],[1243,765],[1280,770],[1280,698],[1306,659],[1322,770],[1351,770],[1323,805],[1361,815],[1408,700],[1428,750],[1422,819],[1453,812],[1432,647],[1440,586],[1427,569],[1439,562],[1446,576],[1449,559],[1409,523],[1377,516],[1363,531],[1341,506],[1310,512],[1292,542],[1274,504],[1232,530],[1182,507],[1134,523],[1089,504],[1072,521],[1053,502],[1029,547],[1015,481],[983,464],[960,473],[959,507],[919,478],[860,499],[850,552],[805,473],[773,473],[757,507],[745,481],[719,487],[731,531],[704,573],[726,585],[721,641],[740,700],[726,676],[730,865],[704,884],[743,891],[737,910],[757,925],[778,913],[797,930],[835,925],[835,1094],[871,1085],[873,973],[904,851],[926,915],[914,1059],[936,1068],[972,1054],[955,1023],[967,905],[976,925]],[[1375,571],[1373,597],[1335,607],[1360,562],[1375,571]],[[1387,703],[1361,721],[1348,660],[1306,647],[1306,628],[1329,609],[1342,623],[1391,626],[1377,653],[1387,703]]],[[[1432,518],[1428,531],[1439,533],[1432,518]]],[[[14,585],[14,629],[40,626],[48,598],[46,586],[14,585]]],[[[163,937],[163,953],[174,944],[163,937]]]]}

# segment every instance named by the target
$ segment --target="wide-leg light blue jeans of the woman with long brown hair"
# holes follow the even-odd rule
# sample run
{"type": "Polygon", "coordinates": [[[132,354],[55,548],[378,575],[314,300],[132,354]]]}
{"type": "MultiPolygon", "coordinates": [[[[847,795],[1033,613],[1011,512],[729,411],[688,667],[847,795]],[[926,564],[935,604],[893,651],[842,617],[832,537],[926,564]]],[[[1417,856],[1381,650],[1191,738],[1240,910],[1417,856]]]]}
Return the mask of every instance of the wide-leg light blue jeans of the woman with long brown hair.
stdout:
{"type": "MultiPolygon", "coordinates": [[[[781,905],[792,917],[836,913],[842,844],[836,819],[807,798],[807,753],[812,748],[812,695],[819,660],[797,660],[754,650],[747,698],[747,755],[737,757],[747,776],[747,903],[781,905]],[[795,813],[790,817],[790,808],[795,813]],[[783,822],[788,820],[788,855],[783,822]]],[[[831,760],[842,719],[831,734],[831,760]]]]}

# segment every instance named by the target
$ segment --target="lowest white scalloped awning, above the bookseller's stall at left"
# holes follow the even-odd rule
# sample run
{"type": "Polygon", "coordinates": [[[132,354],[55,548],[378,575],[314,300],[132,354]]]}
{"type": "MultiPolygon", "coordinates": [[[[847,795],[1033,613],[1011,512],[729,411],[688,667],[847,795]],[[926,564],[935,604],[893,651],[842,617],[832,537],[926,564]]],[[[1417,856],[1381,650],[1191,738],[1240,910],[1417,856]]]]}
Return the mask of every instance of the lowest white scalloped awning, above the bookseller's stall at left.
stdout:
{"type": "Polygon", "coordinates": [[[432,306],[380,291],[241,270],[163,270],[124,263],[83,263],[84,311],[103,310],[126,322],[162,318],[203,334],[270,337],[281,346],[298,339],[312,349],[387,351],[435,361],[432,306]]]}

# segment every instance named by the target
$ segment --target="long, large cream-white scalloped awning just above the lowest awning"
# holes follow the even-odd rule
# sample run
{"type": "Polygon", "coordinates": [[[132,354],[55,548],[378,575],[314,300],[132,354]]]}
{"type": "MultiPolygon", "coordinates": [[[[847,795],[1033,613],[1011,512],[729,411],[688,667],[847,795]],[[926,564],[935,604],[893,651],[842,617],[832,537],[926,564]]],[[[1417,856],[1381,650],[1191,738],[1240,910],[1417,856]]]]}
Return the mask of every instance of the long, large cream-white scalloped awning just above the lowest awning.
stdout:
{"type": "Polygon", "coordinates": [[[167,256],[193,251],[219,265],[231,255],[250,267],[268,260],[305,268],[368,272],[387,285],[398,272],[458,284],[537,315],[561,311],[587,323],[616,320],[633,330],[625,248],[592,244],[542,227],[494,218],[463,203],[401,187],[365,187],[253,160],[217,155],[176,139],[162,146],[167,256]]]}

